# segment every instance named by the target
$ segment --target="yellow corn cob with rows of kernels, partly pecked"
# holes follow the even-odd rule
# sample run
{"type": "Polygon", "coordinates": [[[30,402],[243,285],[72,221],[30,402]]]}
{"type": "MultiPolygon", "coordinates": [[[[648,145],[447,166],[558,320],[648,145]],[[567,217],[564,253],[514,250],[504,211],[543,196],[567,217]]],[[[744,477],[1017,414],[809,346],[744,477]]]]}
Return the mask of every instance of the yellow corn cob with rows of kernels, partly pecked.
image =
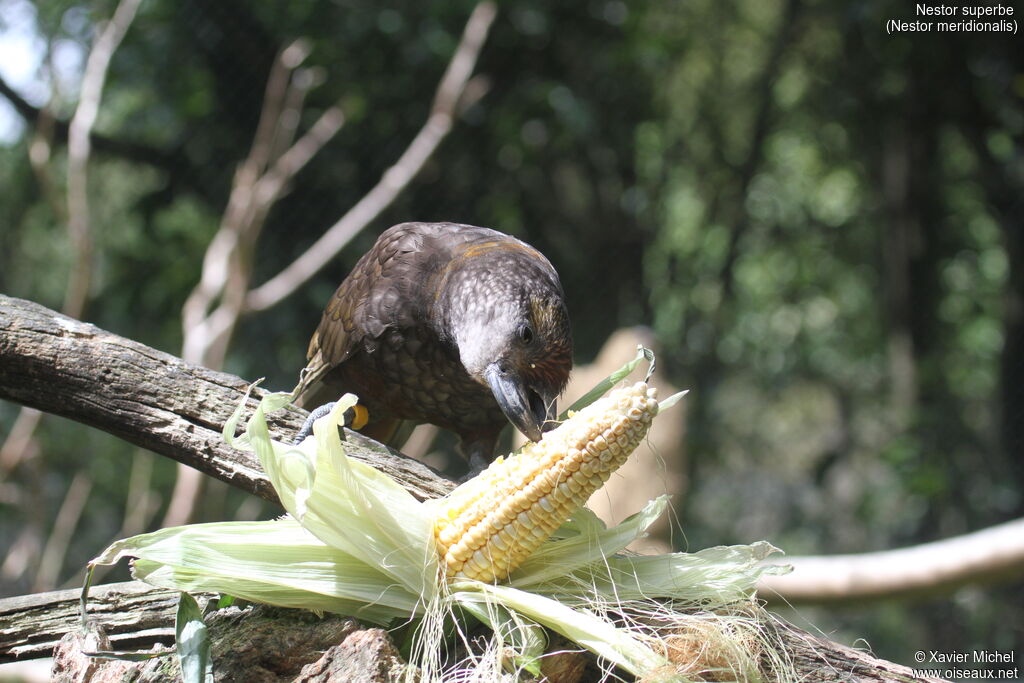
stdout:
{"type": "Polygon", "coordinates": [[[434,522],[445,574],[506,579],[626,462],[656,414],[655,389],[616,389],[460,486],[434,522]]]}

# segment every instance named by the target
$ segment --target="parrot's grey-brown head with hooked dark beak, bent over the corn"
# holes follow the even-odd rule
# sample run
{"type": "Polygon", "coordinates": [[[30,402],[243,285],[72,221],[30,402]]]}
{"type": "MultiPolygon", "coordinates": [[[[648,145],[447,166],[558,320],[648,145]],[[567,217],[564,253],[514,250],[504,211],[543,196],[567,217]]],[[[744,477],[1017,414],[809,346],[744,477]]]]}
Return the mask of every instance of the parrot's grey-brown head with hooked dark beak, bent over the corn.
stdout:
{"type": "Polygon", "coordinates": [[[462,283],[449,319],[466,372],[490,389],[516,429],[539,440],[554,426],[557,398],[572,369],[558,275],[522,245],[480,255],[457,280],[462,283]]]}

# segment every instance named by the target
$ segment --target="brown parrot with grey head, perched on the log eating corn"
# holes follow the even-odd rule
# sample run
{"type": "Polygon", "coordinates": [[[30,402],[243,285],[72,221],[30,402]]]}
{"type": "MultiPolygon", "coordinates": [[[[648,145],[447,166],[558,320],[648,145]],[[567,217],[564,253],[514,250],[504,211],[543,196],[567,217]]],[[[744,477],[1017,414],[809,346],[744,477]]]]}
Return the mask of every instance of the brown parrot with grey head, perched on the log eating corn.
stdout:
{"type": "Polygon", "coordinates": [[[529,245],[401,223],[338,287],[307,358],[299,407],[352,392],[369,412],[364,433],[386,442],[402,421],[429,422],[458,434],[479,471],[507,422],[531,440],[553,426],[572,336],[558,273],[529,245]]]}

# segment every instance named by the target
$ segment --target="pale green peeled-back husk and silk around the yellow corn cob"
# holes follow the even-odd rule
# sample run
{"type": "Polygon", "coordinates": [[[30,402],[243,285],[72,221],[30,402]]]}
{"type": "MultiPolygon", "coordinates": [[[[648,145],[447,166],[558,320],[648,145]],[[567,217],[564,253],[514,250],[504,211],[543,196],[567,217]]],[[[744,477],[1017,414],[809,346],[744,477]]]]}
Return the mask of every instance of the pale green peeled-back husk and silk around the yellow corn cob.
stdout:
{"type": "Polygon", "coordinates": [[[436,502],[417,501],[387,475],[345,455],[338,426],[355,397],[344,396],[317,421],[313,436],[297,445],[271,440],[266,427],[266,413],[290,399],[285,393],[265,396],[240,438],[232,434],[242,405],[224,428],[228,442],[256,453],[289,516],[136,536],[115,543],[91,564],[131,557],[135,578],[164,588],[337,612],[383,626],[416,618],[410,680],[536,675],[543,650],[538,625],[596,654],[606,676],[621,667],[644,680],[687,680],[673,661],[675,636],[665,634],[709,621],[721,626],[715,633],[724,634],[716,636],[723,641],[742,632],[762,643],[737,645],[735,657],[748,652],[749,660],[730,665],[735,680],[759,680],[755,650],[765,638],[750,611],[758,578],[780,570],[760,564],[775,552],[769,544],[622,554],[664,513],[668,498],[662,497],[612,528],[581,509],[506,585],[450,584],[441,579],[433,545],[436,502]],[[445,669],[443,634],[457,611],[475,615],[494,635],[482,652],[467,647],[476,653],[445,669]],[[511,659],[510,649],[517,652],[511,659]]]}

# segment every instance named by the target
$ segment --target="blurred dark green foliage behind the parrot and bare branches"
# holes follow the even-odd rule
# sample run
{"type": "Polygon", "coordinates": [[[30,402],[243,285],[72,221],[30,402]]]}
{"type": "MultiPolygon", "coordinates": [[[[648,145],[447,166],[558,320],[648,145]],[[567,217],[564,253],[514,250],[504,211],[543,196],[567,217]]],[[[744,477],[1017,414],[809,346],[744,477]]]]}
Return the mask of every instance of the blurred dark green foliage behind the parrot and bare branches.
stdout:
{"type": "MultiPolygon", "coordinates": [[[[113,11],[2,0],[0,27],[15,5],[54,50],[87,50],[113,11]]],[[[284,45],[310,40],[307,63],[325,77],[303,124],[337,100],[346,124],[272,211],[257,282],[398,157],[472,6],[145,0],[96,126],[135,146],[94,153],[85,317],[180,350],[181,304],[284,45]]],[[[477,69],[486,94],[341,258],[247,319],[226,369],[292,386],[322,305],[388,225],[488,225],[559,269],[578,362],[614,329],[647,325],[659,360],[693,389],[678,510],[689,547],[768,539],[790,554],[856,553],[1020,516],[1024,49],[1007,34],[887,35],[888,18],[912,11],[878,0],[502,3],[477,69]]],[[[58,119],[75,92],[58,94],[58,119]]],[[[28,161],[32,130],[0,147],[0,290],[59,307],[71,250],[28,161]]],[[[62,191],[61,144],[54,154],[62,191]]],[[[0,404],[0,433],[16,411],[0,404]]],[[[35,458],[2,474],[0,547],[29,558],[0,567],[4,594],[39,588],[75,472],[94,485],[58,583],[117,536],[128,463],[132,476],[152,472],[153,523],[173,485],[171,464],[105,434],[47,419],[39,438],[35,458]]],[[[201,511],[270,513],[223,490],[201,511]]],[[[918,649],[1020,648],[1022,597],[1017,582],[791,616],[911,664],[918,649]]]]}

